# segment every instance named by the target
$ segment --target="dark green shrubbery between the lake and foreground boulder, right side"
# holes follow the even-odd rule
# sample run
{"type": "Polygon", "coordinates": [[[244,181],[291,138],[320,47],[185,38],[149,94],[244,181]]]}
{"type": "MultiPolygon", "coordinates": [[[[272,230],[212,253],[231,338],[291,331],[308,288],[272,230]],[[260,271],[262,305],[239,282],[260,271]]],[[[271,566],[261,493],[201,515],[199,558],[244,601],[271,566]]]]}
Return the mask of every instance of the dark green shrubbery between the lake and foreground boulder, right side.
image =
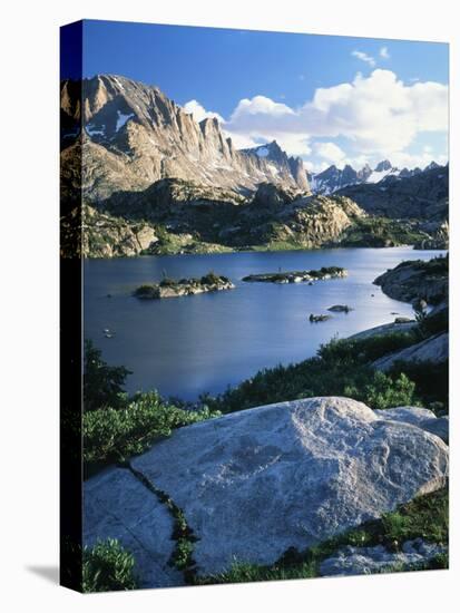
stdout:
{"type": "Polygon", "coordinates": [[[303,362],[264,369],[221,396],[204,396],[213,410],[233,412],[313,396],[349,396],[373,409],[447,403],[447,364],[398,363],[390,372],[370,363],[415,342],[413,333],[333,340],[303,362]],[[442,385],[440,386],[440,380],[442,385]]]}

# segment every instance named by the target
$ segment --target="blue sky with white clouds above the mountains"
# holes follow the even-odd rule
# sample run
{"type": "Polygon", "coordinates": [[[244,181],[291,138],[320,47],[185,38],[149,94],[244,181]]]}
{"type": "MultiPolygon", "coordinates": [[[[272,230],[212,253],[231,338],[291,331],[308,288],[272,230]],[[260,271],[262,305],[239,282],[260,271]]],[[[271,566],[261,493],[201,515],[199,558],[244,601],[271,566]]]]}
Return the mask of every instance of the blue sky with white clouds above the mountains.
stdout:
{"type": "Polygon", "coordinates": [[[315,172],[447,162],[446,43],[89,20],[82,72],[155,85],[236,147],[276,139],[315,172]]]}

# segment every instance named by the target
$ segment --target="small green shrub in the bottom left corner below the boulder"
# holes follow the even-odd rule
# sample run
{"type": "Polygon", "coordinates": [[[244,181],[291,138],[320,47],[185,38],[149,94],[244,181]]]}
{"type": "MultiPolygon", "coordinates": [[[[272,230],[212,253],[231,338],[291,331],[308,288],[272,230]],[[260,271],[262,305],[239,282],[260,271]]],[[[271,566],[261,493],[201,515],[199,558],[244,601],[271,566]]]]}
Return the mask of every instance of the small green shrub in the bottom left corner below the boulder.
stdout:
{"type": "Polygon", "coordinates": [[[135,561],[118,541],[108,538],[84,548],[82,591],[111,592],[138,587],[134,576],[135,561]]]}

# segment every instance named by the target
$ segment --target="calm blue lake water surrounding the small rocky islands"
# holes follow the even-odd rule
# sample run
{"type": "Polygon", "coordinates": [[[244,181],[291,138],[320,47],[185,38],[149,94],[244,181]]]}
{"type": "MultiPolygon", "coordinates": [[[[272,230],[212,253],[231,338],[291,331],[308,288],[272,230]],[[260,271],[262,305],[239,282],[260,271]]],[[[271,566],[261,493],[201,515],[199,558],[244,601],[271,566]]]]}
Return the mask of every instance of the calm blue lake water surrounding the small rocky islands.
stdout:
{"type": "MultiPolygon", "coordinates": [[[[440,252],[439,252],[440,253],[440,252]]],[[[110,364],[133,371],[127,390],[156,388],[165,396],[193,400],[217,393],[265,367],[314,356],[332,337],[412,315],[410,304],[385,296],[372,281],[403,260],[430,260],[433,251],[410,247],[335,249],[275,253],[143,256],[85,262],[85,338],[110,364]],[[247,274],[343,266],[346,279],[306,283],[243,283],[247,274]],[[235,290],[195,296],[141,301],[131,292],[141,283],[202,276],[209,270],[228,276],[235,290]],[[107,298],[110,294],[111,298],[107,298]],[[321,323],[309,314],[349,304],[321,323]],[[104,329],[115,337],[107,339],[104,329]]]]}

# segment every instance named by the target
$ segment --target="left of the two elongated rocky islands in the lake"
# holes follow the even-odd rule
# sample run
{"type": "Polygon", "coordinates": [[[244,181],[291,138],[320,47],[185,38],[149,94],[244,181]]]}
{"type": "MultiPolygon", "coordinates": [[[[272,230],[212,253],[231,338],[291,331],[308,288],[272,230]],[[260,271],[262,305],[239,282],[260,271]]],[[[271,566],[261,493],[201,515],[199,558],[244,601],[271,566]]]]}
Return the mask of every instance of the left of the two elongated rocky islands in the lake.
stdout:
{"type": "Polygon", "coordinates": [[[200,279],[163,279],[159,283],[139,285],[134,292],[136,298],[143,300],[156,300],[160,298],[178,298],[182,295],[195,295],[205,292],[218,292],[233,290],[235,285],[226,276],[208,272],[200,279]]]}

